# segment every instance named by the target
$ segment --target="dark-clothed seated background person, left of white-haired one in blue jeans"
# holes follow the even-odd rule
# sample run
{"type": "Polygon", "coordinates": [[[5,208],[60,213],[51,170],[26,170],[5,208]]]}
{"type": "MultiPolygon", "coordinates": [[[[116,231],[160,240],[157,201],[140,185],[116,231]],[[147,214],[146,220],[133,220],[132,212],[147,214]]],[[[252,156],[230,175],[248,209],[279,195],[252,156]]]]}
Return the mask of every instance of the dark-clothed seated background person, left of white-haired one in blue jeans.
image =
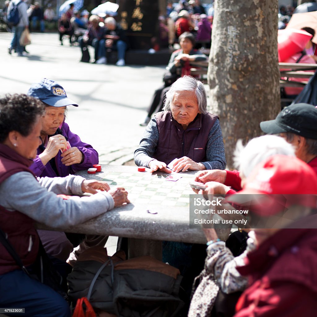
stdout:
{"type": "MultiPolygon", "coordinates": [[[[105,34],[105,28],[99,25],[100,18],[99,16],[92,15],[89,18],[88,28],[83,36],[80,36],[78,42],[80,44],[81,53],[83,53],[83,49],[87,49],[87,45],[94,47],[95,56],[94,59],[97,61],[98,49],[99,49],[99,41],[103,38],[105,34]]],[[[88,53],[89,54],[89,53],[88,53]]]]}

